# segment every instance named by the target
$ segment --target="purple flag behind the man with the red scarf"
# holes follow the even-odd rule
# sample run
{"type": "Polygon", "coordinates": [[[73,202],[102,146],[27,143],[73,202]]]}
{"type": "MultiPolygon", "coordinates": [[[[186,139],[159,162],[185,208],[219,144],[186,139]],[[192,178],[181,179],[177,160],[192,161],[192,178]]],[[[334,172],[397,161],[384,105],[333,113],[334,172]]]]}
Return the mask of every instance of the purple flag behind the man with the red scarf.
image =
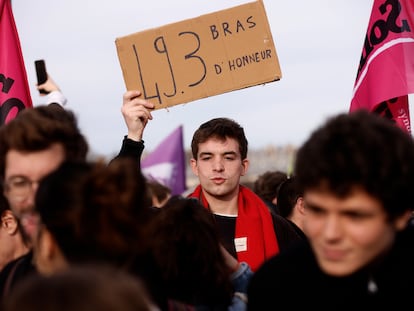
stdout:
{"type": "Polygon", "coordinates": [[[182,125],[141,161],[141,168],[148,179],[169,187],[173,195],[187,190],[182,125]]]}

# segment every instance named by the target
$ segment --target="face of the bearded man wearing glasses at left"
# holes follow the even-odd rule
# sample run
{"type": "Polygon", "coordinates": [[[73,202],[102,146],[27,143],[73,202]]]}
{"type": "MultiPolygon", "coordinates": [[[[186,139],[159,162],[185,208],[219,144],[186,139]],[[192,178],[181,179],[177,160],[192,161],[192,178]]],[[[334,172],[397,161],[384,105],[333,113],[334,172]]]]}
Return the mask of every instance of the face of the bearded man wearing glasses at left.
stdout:
{"type": "Polygon", "coordinates": [[[33,235],[37,222],[33,211],[39,180],[55,170],[64,159],[61,144],[36,152],[12,149],[6,154],[4,195],[29,236],[33,235]]]}

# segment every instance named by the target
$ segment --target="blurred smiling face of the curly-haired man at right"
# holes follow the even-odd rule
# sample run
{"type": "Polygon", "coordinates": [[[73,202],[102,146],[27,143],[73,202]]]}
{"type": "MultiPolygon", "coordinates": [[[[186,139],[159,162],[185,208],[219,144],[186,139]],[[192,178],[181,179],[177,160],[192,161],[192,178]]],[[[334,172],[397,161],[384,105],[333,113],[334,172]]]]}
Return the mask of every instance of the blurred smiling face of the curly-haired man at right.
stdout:
{"type": "Polygon", "coordinates": [[[321,269],[346,276],[386,252],[408,216],[388,221],[380,201],[356,188],[346,198],[328,191],[304,194],[306,232],[321,269]]]}

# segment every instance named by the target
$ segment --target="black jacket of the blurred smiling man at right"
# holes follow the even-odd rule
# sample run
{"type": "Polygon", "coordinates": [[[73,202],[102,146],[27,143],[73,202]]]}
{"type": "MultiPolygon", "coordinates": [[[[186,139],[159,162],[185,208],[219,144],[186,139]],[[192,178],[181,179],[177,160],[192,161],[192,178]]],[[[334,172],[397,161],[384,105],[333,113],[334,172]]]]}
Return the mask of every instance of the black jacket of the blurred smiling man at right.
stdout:
{"type": "Polygon", "coordinates": [[[397,235],[392,249],[375,265],[347,277],[319,269],[310,244],[277,255],[253,276],[248,311],[276,310],[402,310],[414,293],[414,227],[397,235]]]}

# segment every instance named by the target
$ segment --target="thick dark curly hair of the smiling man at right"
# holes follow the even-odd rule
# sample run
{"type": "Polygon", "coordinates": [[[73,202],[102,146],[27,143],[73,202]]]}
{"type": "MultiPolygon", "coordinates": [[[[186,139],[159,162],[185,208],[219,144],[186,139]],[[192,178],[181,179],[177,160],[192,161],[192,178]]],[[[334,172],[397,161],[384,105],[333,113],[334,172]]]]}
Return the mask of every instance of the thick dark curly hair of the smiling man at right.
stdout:
{"type": "Polygon", "coordinates": [[[395,123],[358,110],[333,116],[299,148],[295,174],[304,190],[325,188],[339,197],[361,187],[390,219],[414,202],[414,142],[395,123]]]}

